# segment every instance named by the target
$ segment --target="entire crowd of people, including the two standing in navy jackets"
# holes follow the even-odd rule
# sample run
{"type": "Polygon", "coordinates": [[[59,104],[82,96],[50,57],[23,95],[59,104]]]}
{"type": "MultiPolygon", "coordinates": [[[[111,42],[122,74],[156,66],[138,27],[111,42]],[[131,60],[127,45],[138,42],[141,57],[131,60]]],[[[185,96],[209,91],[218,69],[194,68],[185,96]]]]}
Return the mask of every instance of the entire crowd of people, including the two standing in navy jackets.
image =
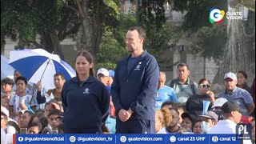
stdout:
{"type": "Polygon", "coordinates": [[[12,134],[235,134],[245,123],[254,142],[255,79],[247,86],[245,71],[226,73],[226,89],[214,94],[209,79],[194,82],[180,63],[178,78],[166,86],[166,74],[143,50],[145,40],[142,28],[130,28],[130,55],[97,75],[91,54],[79,52],[76,77],[54,74],[53,90],[27,82],[18,70],[14,80],[3,79],[1,141],[12,134]]]}

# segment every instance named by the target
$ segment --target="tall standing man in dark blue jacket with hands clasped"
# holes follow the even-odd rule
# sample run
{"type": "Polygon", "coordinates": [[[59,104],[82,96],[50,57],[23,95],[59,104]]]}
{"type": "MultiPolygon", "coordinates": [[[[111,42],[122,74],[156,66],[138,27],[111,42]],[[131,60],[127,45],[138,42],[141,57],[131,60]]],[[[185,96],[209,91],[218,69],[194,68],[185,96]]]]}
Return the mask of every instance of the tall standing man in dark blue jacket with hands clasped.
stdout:
{"type": "Polygon", "coordinates": [[[143,50],[146,33],[132,27],[126,34],[130,55],[118,62],[112,84],[117,134],[154,134],[154,106],[159,68],[143,50]]]}

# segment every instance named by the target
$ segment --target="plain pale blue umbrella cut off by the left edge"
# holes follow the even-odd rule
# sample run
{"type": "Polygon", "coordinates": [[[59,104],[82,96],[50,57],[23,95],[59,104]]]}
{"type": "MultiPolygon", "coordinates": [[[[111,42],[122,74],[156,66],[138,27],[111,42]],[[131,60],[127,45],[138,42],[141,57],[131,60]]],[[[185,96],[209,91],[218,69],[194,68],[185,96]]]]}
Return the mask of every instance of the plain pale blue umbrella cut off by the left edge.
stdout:
{"type": "Polygon", "coordinates": [[[14,77],[14,68],[9,65],[9,59],[1,54],[1,80],[14,77]]]}

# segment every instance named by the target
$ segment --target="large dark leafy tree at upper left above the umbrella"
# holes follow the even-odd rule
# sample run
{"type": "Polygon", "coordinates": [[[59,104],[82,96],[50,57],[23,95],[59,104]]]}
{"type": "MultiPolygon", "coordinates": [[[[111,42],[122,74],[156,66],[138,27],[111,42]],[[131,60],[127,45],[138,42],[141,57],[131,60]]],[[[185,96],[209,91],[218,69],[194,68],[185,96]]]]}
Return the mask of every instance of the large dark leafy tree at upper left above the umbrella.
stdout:
{"type": "Polygon", "coordinates": [[[64,58],[60,42],[76,34],[80,25],[70,6],[74,1],[1,1],[1,50],[10,37],[18,40],[17,48],[35,46],[64,58]]]}

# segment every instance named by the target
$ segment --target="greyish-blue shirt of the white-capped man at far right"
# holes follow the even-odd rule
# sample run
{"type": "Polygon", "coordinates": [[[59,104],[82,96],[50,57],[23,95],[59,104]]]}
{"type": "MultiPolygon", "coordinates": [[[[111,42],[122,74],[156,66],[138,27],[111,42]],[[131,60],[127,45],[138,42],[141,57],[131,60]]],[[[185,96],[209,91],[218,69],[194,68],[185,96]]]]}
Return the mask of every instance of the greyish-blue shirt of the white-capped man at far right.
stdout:
{"type": "MultiPolygon", "coordinates": [[[[221,94],[218,94],[218,98],[226,98],[228,102],[236,102],[243,110],[247,110],[247,106],[254,103],[248,91],[239,87],[236,87],[232,94],[227,94],[225,90],[221,94]]],[[[249,113],[247,111],[246,113],[242,113],[242,115],[249,115],[249,113]]]]}

